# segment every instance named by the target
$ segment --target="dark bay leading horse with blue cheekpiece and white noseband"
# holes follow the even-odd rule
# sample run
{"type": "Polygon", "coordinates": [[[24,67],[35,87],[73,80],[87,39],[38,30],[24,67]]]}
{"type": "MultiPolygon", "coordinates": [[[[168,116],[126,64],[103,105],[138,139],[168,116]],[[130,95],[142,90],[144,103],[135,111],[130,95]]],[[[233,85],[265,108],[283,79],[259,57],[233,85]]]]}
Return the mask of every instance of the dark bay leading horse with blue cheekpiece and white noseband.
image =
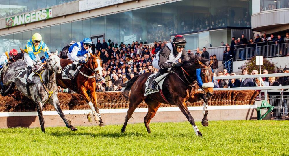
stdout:
{"type": "Polygon", "coordinates": [[[122,84],[121,86],[125,87],[123,90],[123,95],[128,97],[129,91],[129,109],[127,111],[127,115],[125,117],[125,122],[121,129],[121,132],[125,132],[125,128],[127,126],[127,122],[134,110],[138,107],[138,105],[144,100],[148,105],[148,113],[144,117],[144,125],[147,128],[147,132],[151,133],[149,128],[149,123],[161,103],[177,105],[181,112],[186,116],[190,124],[193,126],[196,135],[202,136],[202,133],[197,128],[194,118],[191,116],[187,106],[186,101],[190,103],[199,101],[201,99],[204,100],[204,118],[202,120],[203,126],[208,126],[208,98],[213,94],[213,73],[212,69],[208,65],[208,60],[201,59],[199,57],[195,57],[189,55],[188,60],[183,60],[182,67],[175,68],[174,72],[169,73],[166,79],[163,82],[162,89],[159,92],[155,92],[144,96],[145,93],[145,83],[148,77],[153,73],[144,73],[142,75],[136,75],[128,82],[122,84]],[[197,82],[197,69],[199,68],[199,81],[197,82]],[[202,89],[204,93],[197,92],[199,89],[199,85],[203,83],[202,89]],[[205,85],[206,84],[206,85],[205,85]],[[205,87],[205,88],[204,88],[205,87]]]}

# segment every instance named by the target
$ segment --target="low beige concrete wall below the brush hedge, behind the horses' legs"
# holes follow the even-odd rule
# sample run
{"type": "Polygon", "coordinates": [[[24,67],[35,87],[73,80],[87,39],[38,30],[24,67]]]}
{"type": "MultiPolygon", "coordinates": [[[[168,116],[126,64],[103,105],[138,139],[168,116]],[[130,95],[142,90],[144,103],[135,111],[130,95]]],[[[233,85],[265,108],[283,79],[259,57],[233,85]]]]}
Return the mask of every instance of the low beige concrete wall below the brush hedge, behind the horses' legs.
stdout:
{"type": "MultiPolygon", "coordinates": [[[[222,107],[222,106],[217,106],[222,107]]],[[[238,107],[238,106],[233,106],[238,107]]],[[[210,108],[210,106],[208,107],[210,108]]],[[[257,111],[254,108],[247,109],[221,109],[221,110],[209,110],[208,120],[256,120],[257,111]]],[[[195,121],[201,121],[203,118],[202,110],[191,110],[195,121]]],[[[134,112],[129,124],[143,123],[144,116],[147,112],[134,112]]],[[[101,114],[105,125],[122,125],[125,121],[126,113],[104,113],[101,114]]],[[[74,126],[96,126],[99,122],[88,122],[86,114],[66,115],[66,118],[71,121],[74,126]]],[[[59,115],[47,115],[44,116],[45,127],[65,126],[63,120],[59,115]]],[[[188,121],[181,111],[159,111],[155,114],[151,122],[184,122],[188,121]]],[[[201,128],[201,125],[198,125],[201,128]]],[[[38,116],[12,116],[12,117],[0,117],[0,128],[10,127],[40,127],[38,116]]],[[[127,127],[129,128],[129,126],[127,127]]],[[[143,129],[146,130],[145,127],[143,129]]],[[[153,129],[152,129],[153,131],[153,129]]]]}

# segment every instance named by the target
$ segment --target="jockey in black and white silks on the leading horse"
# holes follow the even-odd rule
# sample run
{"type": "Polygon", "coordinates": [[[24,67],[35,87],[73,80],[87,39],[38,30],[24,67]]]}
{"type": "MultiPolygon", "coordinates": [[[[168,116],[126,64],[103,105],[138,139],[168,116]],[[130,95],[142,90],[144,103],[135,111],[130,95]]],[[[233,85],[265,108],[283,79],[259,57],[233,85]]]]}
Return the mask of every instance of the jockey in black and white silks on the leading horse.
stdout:
{"type": "Polygon", "coordinates": [[[181,62],[177,62],[179,58],[189,59],[188,53],[184,49],[186,43],[187,41],[184,36],[177,35],[174,37],[172,43],[169,42],[165,44],[165,46],[156,53],[153,59],[153,67],[159,71],[149,85],[150,89],[155,90],[157,84],[155,78],[168,71],[168,68],[181,66],[181,62]]]}

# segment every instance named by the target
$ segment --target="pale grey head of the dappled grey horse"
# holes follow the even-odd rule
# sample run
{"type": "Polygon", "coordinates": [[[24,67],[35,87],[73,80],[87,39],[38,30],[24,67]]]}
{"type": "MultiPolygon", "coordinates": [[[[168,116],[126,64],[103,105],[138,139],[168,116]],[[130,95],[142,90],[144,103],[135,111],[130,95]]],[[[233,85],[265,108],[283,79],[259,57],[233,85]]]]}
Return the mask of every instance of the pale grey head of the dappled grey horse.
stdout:
{"type": "Polygon", "coordinates": [[[60,66],[60,58],[57,55],[58,51],[56,50],[55,53],[49,53],[48,54],[48,59],[47,61],[47,68],[50,71],[54,71],[56,74],[60,74],[61,73],[61,66],[60,66]]]}

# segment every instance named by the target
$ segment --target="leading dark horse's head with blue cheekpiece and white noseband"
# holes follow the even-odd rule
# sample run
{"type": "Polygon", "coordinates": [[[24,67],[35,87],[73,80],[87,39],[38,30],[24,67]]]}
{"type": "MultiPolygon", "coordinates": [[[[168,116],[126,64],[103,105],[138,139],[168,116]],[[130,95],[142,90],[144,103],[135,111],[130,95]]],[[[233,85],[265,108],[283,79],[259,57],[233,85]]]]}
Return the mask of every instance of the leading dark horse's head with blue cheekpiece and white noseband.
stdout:
{"type": "Polygon", "coordinates": [[[188,70],[188,73],[196,75],[198,85],[204,90],[205,95],[207,97],[212,96],[214,87],[214,83],[212,83],[213,72],[208,65],[208,60],[189,55],[189,59],[183,60],[183,62],[185,70],[188,70]]]}

